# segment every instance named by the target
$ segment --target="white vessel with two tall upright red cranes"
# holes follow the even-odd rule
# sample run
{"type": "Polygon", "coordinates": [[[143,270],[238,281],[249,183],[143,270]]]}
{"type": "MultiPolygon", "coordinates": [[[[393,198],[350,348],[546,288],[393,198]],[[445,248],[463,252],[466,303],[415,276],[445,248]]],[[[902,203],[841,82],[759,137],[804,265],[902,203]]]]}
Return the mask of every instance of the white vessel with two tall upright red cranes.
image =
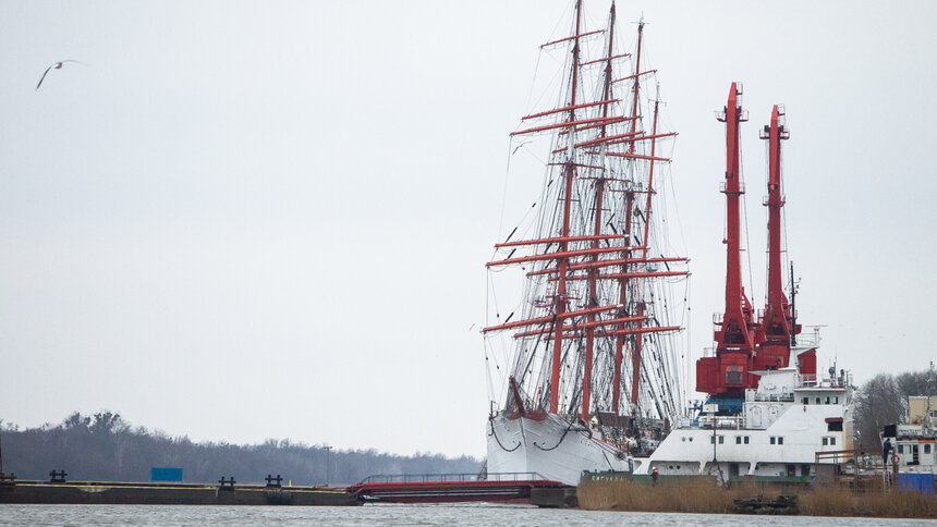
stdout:
{"type": "Polygon", "coordinates": [[[652,455],[635,458],[635,471],[810,477],[815,463],[845,462],[849,454],[842,451],[853,448],[852,380],[836,365],[817,372],[819,339],[801,334],[792,267],[790,298],[784,292],[781,143],[790,135],[784,110],[775,106],[759,134],[768,150],[767,298],[759,310],[742,287],[740,124],[747,115],[740,84],[731,85],[717,115],[726,123],[726,308],[714,318],[715,347],[696,361],[696,391],[708,399],[652,455]]]}

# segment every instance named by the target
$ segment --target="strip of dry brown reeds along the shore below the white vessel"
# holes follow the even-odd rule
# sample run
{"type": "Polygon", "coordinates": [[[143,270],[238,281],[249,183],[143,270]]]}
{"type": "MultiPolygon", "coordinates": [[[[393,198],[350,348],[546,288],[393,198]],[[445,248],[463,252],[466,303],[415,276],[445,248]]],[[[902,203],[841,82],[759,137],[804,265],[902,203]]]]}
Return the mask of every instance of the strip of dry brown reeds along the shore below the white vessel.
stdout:
{"type": "Polygon", "coordinates": [[[937,518],[937,498],[914,491],[885,492],[880,485],[853,489],[847,485],[819,487],[732,481],[720,486],[713,478],[649,480],[584,480],[577,489],[581,508],[593,511],[732,514],[735,500],[755,495],[796,497],[798,514],[805,516],[877,516],[937,518]]]}

